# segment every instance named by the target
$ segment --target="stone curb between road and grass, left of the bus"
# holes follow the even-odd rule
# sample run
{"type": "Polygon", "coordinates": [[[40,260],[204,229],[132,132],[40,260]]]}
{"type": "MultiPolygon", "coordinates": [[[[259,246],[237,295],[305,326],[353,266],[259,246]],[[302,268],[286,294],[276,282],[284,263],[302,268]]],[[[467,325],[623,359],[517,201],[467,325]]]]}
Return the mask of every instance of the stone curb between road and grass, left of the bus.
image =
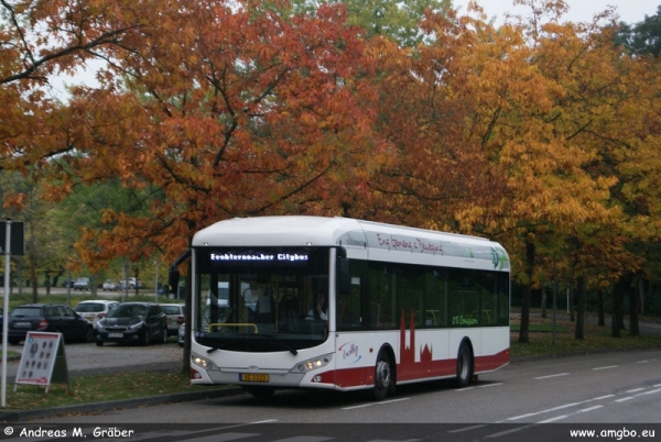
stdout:
{"type": "Polygon", "coordinates": [[[205,391],[177,393],[171,395],[150,396],[145,398],[119,399],[105,402],[80,404],[63,407],[43,408],[36,410],[14,410],[0,413],[0,422],[21,422],[30,419],[62,417],[69,413],[90,413],[122,408],[137,408],[162,404],[186,402],[203,399],[215,399],[242,394],[241,387],[226,387],[205,391]]]}

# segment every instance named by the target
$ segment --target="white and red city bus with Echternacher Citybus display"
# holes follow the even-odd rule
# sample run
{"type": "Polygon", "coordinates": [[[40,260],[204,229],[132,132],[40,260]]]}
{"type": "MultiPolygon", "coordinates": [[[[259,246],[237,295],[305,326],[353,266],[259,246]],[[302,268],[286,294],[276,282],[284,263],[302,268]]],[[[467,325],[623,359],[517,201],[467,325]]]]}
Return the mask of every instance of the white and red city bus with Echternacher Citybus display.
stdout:
{"type": "Polygon", "coordinates": [[[371,389],[509,362],[498,243],[346,218],[220,221],[193,239],[191,382],[371,389]]]}

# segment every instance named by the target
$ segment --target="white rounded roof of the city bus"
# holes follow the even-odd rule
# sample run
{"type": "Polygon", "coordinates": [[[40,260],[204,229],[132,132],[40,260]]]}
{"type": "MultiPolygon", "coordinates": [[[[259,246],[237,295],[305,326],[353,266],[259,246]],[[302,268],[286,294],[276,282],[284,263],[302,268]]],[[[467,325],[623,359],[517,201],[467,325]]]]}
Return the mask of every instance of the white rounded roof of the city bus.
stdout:
{"type": "Polygon", "coordinates": [[[484,267],[509,270],[509,257],[496,242],[469,235],[445,233],[361,221],[350,218],[307,216],[234,218],[201,230],[193,246],[338,246],[349,255],[377,261],[418,261],[421,264],[447,261],[466,266],[479,262],[484,267]],[[400,253],[398,253],[400,252],[400,253]],[[404,256],[407,253],[410,256],[404,256]]]}

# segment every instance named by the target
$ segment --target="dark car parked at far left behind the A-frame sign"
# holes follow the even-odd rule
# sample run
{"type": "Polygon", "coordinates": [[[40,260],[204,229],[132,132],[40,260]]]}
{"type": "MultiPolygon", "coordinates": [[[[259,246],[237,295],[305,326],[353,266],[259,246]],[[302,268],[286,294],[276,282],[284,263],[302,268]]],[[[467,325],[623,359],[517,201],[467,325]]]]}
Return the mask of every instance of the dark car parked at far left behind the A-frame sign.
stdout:
{"type": "Polygon", "coordinates": [[[7,341],[18,345],[29,331],[62,333],[65,342],[94,341],[94,325],[71,307],[59,303],[23,303],[6,318],[7,341]]]}

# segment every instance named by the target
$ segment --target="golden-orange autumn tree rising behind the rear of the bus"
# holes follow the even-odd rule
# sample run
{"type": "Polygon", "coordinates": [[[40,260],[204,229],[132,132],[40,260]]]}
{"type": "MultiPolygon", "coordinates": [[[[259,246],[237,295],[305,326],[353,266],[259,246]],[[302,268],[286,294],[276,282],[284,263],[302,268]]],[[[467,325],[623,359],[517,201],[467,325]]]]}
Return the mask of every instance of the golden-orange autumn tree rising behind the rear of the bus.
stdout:
{"type": "Polygon", "coordinates": [[[594,264],[592,232],[610,232],[600,253],[630,256],[615,240],[630,239],[625,225],[639,221],[613,200],[616,185],[630,180],[596,166],[605,153],[599,135],[615,140],[621,124],[639,124],[639,115],[622,112],[638,102],[628,84],[638,84],[640,73],[602,32],[610,11],[592,23],[559,24],[564,2],[522,3],[531,16],[498,30],[484,15],[430,15],[424,29],[435,40],[415,59],[386,44],[375,49],[387,65],[378,121],[393,159],[371,185],[382,196],[379,213],[506,244],[527,287],[519,338],[525,342],[538,254],[550,235],[576,244],[560,258],[572,259],[582,287],[594,264]]]}

